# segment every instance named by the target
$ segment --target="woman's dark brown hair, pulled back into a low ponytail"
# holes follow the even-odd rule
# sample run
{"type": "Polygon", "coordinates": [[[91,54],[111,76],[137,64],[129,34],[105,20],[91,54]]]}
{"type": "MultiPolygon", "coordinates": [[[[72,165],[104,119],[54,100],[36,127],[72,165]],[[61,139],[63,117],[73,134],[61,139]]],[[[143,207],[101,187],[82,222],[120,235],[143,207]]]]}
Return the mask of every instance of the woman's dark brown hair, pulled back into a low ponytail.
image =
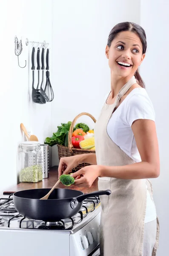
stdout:
{"type": "MultiPolygon", "coordinates": [[[[116,26],[114,26],[112,28],[112,30],[110,31],[107,45],[110,47],[113,39],[115,39],[116,36],[120,32],[123,32],[123,31],[131,31],[131,32],[136,33],[139,36],[141,43],[143,45],[142,54],[146,53],[146,49],[147,49],[146,33],[141,26],[139,26],[135,23],[132,23],[132,22],[121,22],[121,23],[118,23],[116,26]]],[[[145,83],[144,83],[143,79],[141,78],[138,70],[136,70],[136,72],[135,72],[135,79],[137,79],[137,81],[141,87],[145,88],[145,83]]]]}

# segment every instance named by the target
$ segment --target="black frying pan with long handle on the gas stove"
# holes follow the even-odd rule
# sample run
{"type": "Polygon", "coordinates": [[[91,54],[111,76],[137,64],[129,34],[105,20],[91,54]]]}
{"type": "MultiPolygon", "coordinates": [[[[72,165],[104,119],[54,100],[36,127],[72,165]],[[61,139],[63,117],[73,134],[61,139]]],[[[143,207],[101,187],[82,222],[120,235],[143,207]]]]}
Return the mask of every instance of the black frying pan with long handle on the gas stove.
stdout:
{"type": "Polygon", "coordinates": [[[111,194],[110,190],[84,194],[73,189],[54,189],[47,200],[40,200],[49,191],[50,189],[30,189],[15,192],[14,206],[23,217],[52,222],[76,215],[86,198],[111,194]]]}

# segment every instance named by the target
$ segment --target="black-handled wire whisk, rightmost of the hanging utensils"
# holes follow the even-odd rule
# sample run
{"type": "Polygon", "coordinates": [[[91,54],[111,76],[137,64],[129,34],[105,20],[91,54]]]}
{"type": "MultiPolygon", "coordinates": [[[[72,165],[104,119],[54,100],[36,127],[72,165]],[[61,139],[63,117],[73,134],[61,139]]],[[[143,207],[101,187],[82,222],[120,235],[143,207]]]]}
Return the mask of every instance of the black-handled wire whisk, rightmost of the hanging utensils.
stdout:
{"type": "Polygon", "coordinates": [[[47,97],[49,98],[49,102],[52,102],[52,100],[54,99],[54,92],[52,89],[52,85],[49,79],[49,49],[47,49],[46,52],[46,85],[45,85],[45,93],[47,95],[47,97]]]}

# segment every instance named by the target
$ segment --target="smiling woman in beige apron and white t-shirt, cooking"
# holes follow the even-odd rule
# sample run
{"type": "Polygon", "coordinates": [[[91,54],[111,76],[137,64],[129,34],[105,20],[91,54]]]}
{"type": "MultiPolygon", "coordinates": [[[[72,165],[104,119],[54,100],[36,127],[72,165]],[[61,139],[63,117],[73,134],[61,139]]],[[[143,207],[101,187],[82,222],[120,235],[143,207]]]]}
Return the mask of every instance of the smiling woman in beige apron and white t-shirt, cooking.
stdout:
{"type": "Polygon", "coordinates": [[[160,174],[155,112],[138,73],[146,53],[146,34],[135,23],[117,24],[109,34],[106,57],[111,92],[95,124],[96,154],[60,159],[59,176],[79,163],[90,163],[76,173],[77,186],[100,190],[100,255],[155,256],[159,222],[149,178],[160,174]]]}

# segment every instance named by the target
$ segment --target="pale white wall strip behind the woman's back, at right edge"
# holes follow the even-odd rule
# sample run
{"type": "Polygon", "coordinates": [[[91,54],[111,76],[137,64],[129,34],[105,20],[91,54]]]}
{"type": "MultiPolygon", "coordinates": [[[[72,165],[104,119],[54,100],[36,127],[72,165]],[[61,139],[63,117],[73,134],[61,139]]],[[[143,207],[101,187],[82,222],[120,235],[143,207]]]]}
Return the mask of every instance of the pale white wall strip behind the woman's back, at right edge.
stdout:
{"type": "Polygon", "coordinates": [[[152,180],[160,220],[158,256],[168,255],[169,240],[169,2],[141,0],[140,25],[146,31],[148,50],[141,76],[156,112],[160,149],[160,177],[152,180]]]}

